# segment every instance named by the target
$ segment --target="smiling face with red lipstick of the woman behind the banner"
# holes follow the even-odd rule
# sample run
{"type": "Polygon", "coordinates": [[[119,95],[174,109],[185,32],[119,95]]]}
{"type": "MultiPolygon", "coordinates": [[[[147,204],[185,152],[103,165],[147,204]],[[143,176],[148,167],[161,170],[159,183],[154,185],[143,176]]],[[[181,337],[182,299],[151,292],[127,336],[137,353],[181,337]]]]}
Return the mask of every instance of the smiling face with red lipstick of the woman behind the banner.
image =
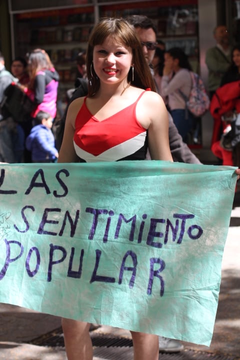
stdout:
{"type": "Polygon", "coordinates": [[[112,36],[107,36],[101,45],[93,48],[95,73],[105,83],[117,83],[125,79],[131,65],[131,48],[112,36]]]}

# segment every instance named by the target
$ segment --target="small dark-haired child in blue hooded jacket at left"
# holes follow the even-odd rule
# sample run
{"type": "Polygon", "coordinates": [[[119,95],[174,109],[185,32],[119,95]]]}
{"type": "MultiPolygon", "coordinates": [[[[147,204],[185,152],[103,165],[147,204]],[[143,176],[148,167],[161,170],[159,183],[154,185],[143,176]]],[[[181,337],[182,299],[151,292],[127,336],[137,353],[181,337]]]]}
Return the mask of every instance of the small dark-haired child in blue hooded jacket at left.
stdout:
{"type": "Polygon", "coordinates": [[[32,162],[55,162],[58,151],[51,131],[52,116],[48,112],[39,111],[35,123],[26,138],[26,148],[31,151],[32,162]]]}

